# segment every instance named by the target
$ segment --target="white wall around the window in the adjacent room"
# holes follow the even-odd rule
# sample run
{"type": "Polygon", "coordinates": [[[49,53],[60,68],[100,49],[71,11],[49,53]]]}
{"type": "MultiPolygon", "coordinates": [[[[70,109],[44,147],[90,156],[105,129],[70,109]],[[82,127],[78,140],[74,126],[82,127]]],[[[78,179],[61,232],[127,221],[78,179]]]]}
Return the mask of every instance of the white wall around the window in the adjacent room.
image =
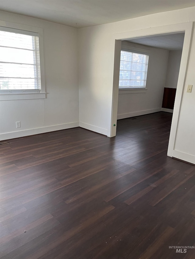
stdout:
{"type": "Polygon", "coordinates": [[[122,48],[126,48],[126,46],[143,49],[143,52],[144,50],[150,51],[146,81],[147,90],[145,92],[140,90],[139,93],[132,93],[134,90],[119,90],[117,119],[161,111],[168,50],[122,41],[122,48]]]}

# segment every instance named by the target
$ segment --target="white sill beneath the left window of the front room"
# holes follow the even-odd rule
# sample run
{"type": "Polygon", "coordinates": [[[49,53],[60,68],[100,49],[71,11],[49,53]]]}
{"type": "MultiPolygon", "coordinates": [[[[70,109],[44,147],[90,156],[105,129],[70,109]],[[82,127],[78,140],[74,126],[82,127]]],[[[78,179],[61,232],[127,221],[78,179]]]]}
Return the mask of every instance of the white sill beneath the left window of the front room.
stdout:
{"type": "Polygon", "coordinates": [[[46,93],[0,94],[0,101],[45,99],[46,93]]]}

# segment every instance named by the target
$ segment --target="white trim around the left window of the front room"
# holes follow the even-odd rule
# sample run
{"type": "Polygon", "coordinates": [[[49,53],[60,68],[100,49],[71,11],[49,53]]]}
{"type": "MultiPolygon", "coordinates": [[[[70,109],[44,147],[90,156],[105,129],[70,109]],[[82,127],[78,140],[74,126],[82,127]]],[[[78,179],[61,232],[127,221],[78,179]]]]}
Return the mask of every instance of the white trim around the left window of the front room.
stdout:
{"type": "MultiPolygon", "coordinates": [[[[19,23],[12,23],[7,21],[0,20],[0,26],[8,28],[7,31],[14,31],[14,29],[27,31],[29,35],[33,33],[38,34],[39,37],[39,56],[40,56],[40,80],[41,80],[41,89],[37,92],[25,91],[24,93],[0,93],[0,101],[9,101],[9,100],[28,100],[28,99],[44,99],[46,98],[45,92],[45,75],[44,75],[44,56],[43,56],[43,29],[39,27],[33,27],[28,25],[23,25],[19,23]]],[[[5,29],[6,31],[6,29],[5,29]]]]}

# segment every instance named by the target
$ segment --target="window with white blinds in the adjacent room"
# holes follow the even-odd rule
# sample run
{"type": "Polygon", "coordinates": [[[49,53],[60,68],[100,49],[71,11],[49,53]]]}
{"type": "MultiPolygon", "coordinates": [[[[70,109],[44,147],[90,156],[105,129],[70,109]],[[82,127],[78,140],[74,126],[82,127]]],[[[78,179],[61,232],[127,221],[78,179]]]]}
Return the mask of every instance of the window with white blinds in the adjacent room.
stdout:
{"type": "Polygon", "coordinates": [[[119,89],[145,88],[148,54],[121,50],[119,89]]]}

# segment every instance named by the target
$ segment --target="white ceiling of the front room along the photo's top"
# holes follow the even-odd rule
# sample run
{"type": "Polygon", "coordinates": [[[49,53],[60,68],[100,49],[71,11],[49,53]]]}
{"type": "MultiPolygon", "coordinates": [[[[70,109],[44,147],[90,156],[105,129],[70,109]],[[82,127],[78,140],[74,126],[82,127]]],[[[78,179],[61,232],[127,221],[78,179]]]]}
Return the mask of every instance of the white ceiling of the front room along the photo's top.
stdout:
{"type": "Polygon", "coordinates": [[[182,9],[194,0],[0,0],[0,10],[75,28],[182,9]]]}

